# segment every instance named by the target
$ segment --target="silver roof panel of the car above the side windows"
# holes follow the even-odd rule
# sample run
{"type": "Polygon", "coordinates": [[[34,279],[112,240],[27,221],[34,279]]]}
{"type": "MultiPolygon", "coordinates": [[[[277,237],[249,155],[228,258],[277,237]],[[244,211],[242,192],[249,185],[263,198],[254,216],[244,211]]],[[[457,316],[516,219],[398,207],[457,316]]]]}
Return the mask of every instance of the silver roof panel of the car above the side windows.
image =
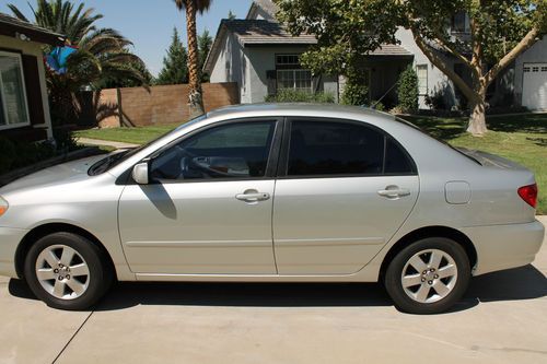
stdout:
{"type": "Polygon", "coordinates": [[[381,118],[395,120],[395,116],[377,111],[368,107],[345,106],[338,104],[307,104],[307,103],[264,103],[226,106],[207,114],[208,118],[231,118],[235,116],[323,116],[336,118],[381,118]]]}

